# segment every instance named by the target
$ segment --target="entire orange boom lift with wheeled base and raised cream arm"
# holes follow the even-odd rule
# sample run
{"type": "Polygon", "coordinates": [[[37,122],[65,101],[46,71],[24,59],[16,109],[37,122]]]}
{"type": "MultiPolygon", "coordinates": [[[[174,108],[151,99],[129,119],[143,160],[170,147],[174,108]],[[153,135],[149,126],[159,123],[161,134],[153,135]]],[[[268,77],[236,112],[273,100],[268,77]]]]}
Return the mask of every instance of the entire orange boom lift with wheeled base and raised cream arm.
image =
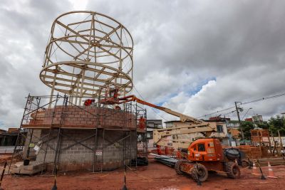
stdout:
{"type": "MultiPolygon", "coordinates": [[[[241,171],[237,162],[239,151],[237,149],[222,149],[219,139],[204,138],[197,139],[194,142],[185,139],[165,139],[175,134],[191,134],[201,132],[205,137],[209,137],[212,132],[217,131],[217,126],[212,123],[197,120],[194,117],[183,115],[179,112],[153,105],[149,102],[140,100],[135,95],[118,97],[118,89],[110,90],[109,97],[100,100],[100,103],[106,105],[119,105],[125,102],[138,102],[142,105],[154,107],[158,110],[180,117],[183,123],[181,126],[170,127],[153,131],[153,139],[157,146],[174,147],[180,149],[180,155],[183,159],[176,160],[175,171],[177,174],[189,174],[195,181],[206,181],[208,171],[224,172],[230,178],[240,177],[241,171]]],[[[143,120],[144,118],[140,118],[143,120]]],[[[145,122],[145,120],[143,120],[145,122]]]]}

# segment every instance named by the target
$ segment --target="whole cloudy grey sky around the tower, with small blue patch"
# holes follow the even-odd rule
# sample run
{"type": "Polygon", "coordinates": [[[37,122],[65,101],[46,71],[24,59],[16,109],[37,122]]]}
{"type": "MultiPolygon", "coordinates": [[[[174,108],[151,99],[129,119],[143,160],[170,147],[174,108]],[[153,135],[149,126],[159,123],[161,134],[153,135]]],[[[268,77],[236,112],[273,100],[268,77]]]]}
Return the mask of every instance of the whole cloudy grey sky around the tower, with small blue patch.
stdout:
{"type": "MultiPolygon", "coordinates": [[[[128,28],[133,81],[148,102],[199,117],[285,93],[284,7],[271,0],[1,1],[0,125],[19,126],[28,93],[49,94],[38,75],[51,24],[74,10],[97,11],[128,28]]],[[[285,96],[242,107],[242,117],[267,118],[285,112],[285,96]]],[[[173,119],[147,110],[149,118],[173,119]]]]}

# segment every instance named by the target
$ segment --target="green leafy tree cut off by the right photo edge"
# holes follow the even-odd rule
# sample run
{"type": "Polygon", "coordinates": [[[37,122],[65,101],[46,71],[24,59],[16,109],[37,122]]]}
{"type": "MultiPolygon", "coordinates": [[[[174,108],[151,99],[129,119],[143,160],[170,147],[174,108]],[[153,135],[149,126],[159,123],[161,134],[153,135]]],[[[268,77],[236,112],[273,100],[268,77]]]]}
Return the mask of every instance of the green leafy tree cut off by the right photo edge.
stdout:
{"type": "Polygon", "coordinates": [[[274,134],[274,136],[278,135],[278,131],[281,136],[285,135],[285,118],[284,116],[276,115],[276,117],[271,117],[268,121],[269,131],[274,134]]]}

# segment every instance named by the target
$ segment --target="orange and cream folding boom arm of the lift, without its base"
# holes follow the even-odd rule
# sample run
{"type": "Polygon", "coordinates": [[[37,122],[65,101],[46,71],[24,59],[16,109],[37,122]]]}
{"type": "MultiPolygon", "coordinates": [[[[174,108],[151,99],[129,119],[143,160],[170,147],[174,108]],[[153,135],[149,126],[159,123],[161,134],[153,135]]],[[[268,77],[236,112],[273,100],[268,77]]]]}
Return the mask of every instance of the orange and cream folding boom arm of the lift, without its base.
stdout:
{"type": "Polygon", "coordinates": [[[138,102],[142,105],[147,105],[150,107],[154,107],[157,110],[162,110],[167,112],[170,115],[174,115],[180,117],[181,124],[176,127],[166,128],[166,129],[159,129],[153,130],[153,140],[154,143],[160,146],[168,146],[168,147],[175,147],[175,148],[184,148],[189,146],[192,140],[183,140],[183,139],[167,139],[172,135],[176,134],[192,134],[195,132],[201,132],[204,134],[205,137],[209,137],[212,132],[217,131],[217,127],[209,122],[204,122],[202,120],[197,120],[194,117],[190,117],[188,115],[181,114],[180,112],[175,112],[170,110],[167,107],[161,107],[157,105],[153,105],[149,102],[145,102],[140,100],[135,95],[129,95],[126,97],[106,97],[104,100],[101,100],[101,103],[115,105],[121,104],[125,102],[138,102]]]}

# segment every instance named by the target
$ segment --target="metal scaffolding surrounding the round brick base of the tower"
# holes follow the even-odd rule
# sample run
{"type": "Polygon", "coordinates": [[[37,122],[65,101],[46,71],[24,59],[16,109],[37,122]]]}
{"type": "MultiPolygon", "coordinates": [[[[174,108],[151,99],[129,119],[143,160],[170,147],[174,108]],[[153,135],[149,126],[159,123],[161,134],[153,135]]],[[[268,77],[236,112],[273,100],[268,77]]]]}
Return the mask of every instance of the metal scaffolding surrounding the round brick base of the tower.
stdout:
{"type": "Polygon", "coordinates": [[[146,110],[136,103],[128,102],[120,105],[120,110],[115,110],[113,106],[101,105],[100,98],[88,107],[73,104],[70,101],[73,97],[68,95],[28,95],[26,99],[11,163],[19,152],[23,152],[24,159],[42,162],[41,173],[46,164],[54,172],[61,165],[63,154],[68,155],[68,151],[75,147],[92,155],[92,162],[85,169],[93,172],[106,170],[105,154],[110,154],[108,149],[112,147],[118,153],[114,157],[122,156],[117,163],[120,167],[123,164],[136,167],[138,157],[147,159],[146,127],[142,128],[138,123],[140,117],[146,119],[147,115],[146,110]],[[77,135],[79,132],[81,137],[77,135]],[[24,142],[19,140],[23,138],[24,142]]]}

